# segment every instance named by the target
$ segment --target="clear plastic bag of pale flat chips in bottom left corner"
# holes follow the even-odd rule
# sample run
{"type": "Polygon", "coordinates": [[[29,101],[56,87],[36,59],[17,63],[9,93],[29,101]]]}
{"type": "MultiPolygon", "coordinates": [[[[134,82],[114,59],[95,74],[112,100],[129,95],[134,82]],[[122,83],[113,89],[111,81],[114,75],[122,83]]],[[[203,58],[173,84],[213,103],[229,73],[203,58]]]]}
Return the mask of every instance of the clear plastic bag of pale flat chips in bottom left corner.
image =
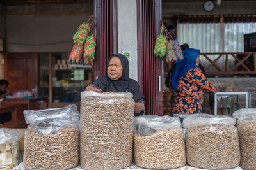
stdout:
{"type": "Polygon", "coordinates": [[[18,165],[20,132],[0,129],[0,169],[12,169],[18,165]]]}

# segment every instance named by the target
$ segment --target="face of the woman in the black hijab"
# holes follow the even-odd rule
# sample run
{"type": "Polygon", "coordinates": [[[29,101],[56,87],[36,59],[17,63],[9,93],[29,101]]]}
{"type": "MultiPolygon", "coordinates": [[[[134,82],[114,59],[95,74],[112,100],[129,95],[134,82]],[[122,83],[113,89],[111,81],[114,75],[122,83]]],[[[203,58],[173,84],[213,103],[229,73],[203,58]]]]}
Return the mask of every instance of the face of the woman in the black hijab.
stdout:
{"type": "Polygon", "coordinates": [[[118,57],[112,57],[108,64],[108,77],[111,80],[118,80],[122,77],[123,66],[122,62],[118,57]]]}

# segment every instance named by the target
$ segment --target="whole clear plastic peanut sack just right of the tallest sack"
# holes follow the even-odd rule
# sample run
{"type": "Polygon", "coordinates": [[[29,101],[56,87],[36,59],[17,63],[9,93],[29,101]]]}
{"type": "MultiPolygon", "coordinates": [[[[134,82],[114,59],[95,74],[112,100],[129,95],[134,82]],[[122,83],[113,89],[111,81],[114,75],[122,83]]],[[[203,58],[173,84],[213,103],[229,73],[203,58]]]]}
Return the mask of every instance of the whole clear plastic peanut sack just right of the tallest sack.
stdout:
{"type": "Polygon", "coordinates": [[[180,119],[164,116],[135,118],[134,156],[137,166],[148,169],[175,169],[186,164],[180,119]]]}

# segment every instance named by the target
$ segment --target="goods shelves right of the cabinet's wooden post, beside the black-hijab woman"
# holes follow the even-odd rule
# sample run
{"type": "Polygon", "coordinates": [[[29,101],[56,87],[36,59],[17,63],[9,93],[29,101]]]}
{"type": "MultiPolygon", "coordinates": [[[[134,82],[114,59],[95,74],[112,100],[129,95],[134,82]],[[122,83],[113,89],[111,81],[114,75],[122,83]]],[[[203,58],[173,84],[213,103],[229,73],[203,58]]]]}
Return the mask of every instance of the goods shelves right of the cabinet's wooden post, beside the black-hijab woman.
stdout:
{"type": "Polygon", "coordinates": [[[92,66],[74,64],[68,57],[69,53],[52,53],[52,103],[79,103],[81,92],[92,82],[92,66]]]}

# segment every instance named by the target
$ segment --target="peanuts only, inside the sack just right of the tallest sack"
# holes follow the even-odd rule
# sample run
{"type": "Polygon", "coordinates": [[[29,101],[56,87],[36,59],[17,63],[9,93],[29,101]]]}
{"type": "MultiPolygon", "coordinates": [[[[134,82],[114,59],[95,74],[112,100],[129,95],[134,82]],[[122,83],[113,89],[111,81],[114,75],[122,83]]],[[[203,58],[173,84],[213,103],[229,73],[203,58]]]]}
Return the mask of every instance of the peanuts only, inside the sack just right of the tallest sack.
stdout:
{"type": "Polygon", "coordinates": [[[186,164],[183,129],[170,129],[150,136],[134,134],[137,166],[148,169],[175,169],[186,164]]]}

